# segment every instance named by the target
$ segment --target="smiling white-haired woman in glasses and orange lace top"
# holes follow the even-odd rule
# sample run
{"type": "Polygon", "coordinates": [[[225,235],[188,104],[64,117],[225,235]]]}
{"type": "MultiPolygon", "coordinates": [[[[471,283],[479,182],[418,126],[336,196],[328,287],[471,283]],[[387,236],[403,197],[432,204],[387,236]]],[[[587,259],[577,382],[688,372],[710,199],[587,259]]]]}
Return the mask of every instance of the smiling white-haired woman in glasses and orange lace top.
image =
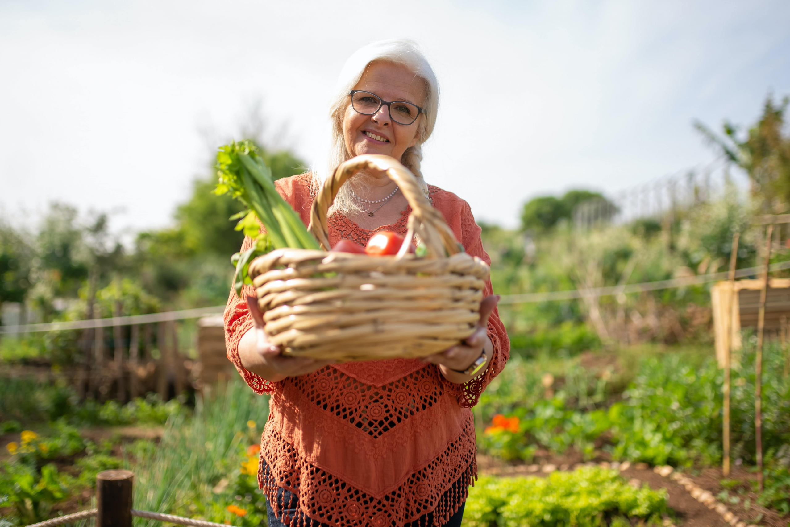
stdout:
{"type": "MultiPolygon", "coordinates": [[[[490,262],[469,205],[422,182],[421,145],[438,108],[438,83],[423,54],[402,40],[363,47],[348,59],[339,87],[330,167],[361,154],[401,160],[466,252],[490,262]]],[[[276,181],[306,224],[321,183],[317,174],[276,181]]],[[[358,174],[330,210],[329,240],[365,245],[381,230],[405,234],[410,211],[389,178],[358,174]]],[[[256,393],[272,396],[258,471],[270,527],[461,524],[476,477],[471,407],[510,349],[491,282],[485,294],[479,327],[462,345],[423,360],[331,364],[280,355],[266,341],[257,305],[246,302],[252,288],[242,298],[231,291],[228,358],[256,393]]]]}

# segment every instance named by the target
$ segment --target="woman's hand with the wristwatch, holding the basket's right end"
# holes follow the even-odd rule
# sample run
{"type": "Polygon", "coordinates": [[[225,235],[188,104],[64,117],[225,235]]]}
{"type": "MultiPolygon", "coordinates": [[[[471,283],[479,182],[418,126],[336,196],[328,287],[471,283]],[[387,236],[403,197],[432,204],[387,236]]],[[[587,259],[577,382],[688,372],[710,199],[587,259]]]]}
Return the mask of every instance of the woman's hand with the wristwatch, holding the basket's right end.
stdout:
{"type": "MultiPolygon", "coordinates": [[[[494,311],[498,301],[499,295],[483,298],[483,301],[480,302],[480,320],[477,322],[475,332],[466,338],[463,345],[453,346],[450,349],[446,349],[446,351],[442,351],[442,353],[429,355],[423,361],[436,364],[442,370],[442,375],[453,383],[465,383],[472,379],[472,377],[461,372],[480,357],[483,349],[487,350],[488,360],[491,361],[491,352],[494,346],[487,335],[488,318],[491,316],[491,312],[494,311]]],[[[484,371],[485,369],[483,368],[478,375],[484,371]]]]}

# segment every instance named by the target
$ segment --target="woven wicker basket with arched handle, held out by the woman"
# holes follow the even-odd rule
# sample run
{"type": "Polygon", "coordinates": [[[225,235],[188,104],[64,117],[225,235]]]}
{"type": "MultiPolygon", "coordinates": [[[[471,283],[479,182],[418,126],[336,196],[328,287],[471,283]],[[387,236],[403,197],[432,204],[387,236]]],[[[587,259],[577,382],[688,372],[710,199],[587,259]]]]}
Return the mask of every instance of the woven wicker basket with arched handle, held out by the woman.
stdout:
{"type": "Polygon", "coordinates": [[[414,175],[386,155],[340,165],[316,196],[310,231],[329,250],[326,212],[360,170],[386,173],[412,207],[397,256],[277,249],[250,263],[265,332],[283,353],[336,361],[425,357],[472,334],[488,266],[462,252],[414,175]],[[408,253],[414,234],[428,254],[408,253]],[[449,254],[450,256],[446,256],[449,254]]]}

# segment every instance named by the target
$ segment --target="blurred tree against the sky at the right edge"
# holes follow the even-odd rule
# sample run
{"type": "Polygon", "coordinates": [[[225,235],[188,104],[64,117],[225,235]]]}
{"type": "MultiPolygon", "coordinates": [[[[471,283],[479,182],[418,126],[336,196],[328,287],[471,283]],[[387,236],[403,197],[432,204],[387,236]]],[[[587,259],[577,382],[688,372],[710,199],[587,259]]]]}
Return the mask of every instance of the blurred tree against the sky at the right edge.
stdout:
{"type": "Polygon", "coordinates": [[[784,127],[784,112],[790,99],[774,103],[771,95],[763,106],[762,117],[746,136],[739,127],[724,121],[724,136],[718,136],[697,121],[696,129],[732,163],[746,170],[752,195],[762,208],[784,212],[790,204],[790,133],[784,127]]]}

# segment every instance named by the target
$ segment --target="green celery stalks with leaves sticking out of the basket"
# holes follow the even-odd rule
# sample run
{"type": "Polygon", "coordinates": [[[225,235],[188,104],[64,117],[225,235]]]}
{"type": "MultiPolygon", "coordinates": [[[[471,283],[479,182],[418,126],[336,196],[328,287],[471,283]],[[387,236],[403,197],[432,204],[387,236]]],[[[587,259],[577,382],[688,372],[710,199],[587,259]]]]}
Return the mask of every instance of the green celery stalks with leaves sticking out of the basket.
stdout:
{"type": "Polygon", "coordinates": [[[235,229],[254,240],[251,249],[237,252],[231,258],[236,267],[233,286],[241,295],[242,286],[251,284],[250,262],[273,249],[321,249],[307,231],[302,219],[277,192],[272,170],[261,159],[261,151],[250,140],[232,142],[216,153],[216,174],[219,178],[214,193],[230,194],[241,201],[245,211],[231,216],[238,219],[235,229]],[[260,220],[266,232],[261,233],[260,220]]]}

